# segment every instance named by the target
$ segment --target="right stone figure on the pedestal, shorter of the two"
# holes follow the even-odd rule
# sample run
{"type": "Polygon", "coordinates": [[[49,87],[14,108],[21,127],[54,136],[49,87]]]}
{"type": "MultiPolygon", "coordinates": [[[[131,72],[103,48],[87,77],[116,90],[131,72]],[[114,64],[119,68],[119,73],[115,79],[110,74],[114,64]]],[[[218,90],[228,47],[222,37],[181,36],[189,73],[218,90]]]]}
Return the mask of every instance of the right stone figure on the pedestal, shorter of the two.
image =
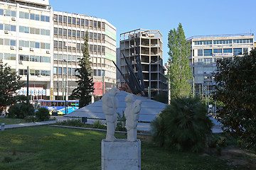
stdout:
{"type": "Polygon", "coordinates": [[[124,116],[127,119],[125,128],[127,128],[127,141],[137,141],[137,125],[139,120],[139,111],[141,110],[142,101],[136,100],[132,103],[132,95],[125,97],[127,108],[125,108],[124,116]]]}

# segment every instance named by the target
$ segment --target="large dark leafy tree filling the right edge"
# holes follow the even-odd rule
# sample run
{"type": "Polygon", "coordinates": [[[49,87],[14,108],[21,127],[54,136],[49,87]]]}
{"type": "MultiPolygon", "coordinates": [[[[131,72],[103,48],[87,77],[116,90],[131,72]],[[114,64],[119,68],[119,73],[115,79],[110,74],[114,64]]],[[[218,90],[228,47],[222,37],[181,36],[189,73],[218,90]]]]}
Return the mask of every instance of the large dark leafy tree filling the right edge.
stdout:
{"type": "Polygon", "coordinates": [[[256,151],[256,49],[234,60],[218,60],[217,70],[213,97],[224,104],[218,120],[223,130],[256,151]]]}

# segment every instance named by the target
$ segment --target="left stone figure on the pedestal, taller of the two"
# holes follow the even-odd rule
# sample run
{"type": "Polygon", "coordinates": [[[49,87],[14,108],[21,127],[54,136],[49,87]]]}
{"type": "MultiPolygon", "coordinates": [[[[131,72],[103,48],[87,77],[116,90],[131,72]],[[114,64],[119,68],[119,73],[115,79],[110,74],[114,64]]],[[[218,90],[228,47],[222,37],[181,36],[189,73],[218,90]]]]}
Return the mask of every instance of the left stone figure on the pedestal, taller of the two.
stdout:
{"type": "Polygon", "coordinates": [[[120,91],[113,87],[102,97],[102,110],[105,113],[107,120],[107,136],[105,141],[114,142],[117,140],[114,137],[114,130],[117,126],[118,101],[117,97],[115,97],[117,94],[120,94],[120,91]]]}

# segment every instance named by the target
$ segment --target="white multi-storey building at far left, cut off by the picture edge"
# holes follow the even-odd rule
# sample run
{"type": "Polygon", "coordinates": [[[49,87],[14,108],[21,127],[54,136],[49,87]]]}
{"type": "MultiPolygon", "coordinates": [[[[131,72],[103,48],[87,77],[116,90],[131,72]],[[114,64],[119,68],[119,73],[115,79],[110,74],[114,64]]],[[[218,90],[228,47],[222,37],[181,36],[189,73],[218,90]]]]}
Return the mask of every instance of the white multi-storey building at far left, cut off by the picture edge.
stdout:
{"type": "MultiPolygon", "coordinates": [[[[53,11],[48,1],[0,1],[0,60],[29,77],[29,95],[50,96],[53,55],[53,11]],[[29,70],[28,70],[28,69],[29,70]]],[[[22,88],[19,94],[26,94],[22,88]]]]}

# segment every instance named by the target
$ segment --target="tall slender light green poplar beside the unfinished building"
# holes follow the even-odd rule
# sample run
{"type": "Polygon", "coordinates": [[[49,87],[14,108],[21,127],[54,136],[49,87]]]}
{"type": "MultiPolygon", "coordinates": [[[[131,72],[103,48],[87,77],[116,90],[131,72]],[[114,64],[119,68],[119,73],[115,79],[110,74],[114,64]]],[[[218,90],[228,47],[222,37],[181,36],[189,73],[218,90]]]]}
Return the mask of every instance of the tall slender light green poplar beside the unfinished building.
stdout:
{"type": "Polygon", "coordinates": [[[192,70],[189,67],[188,56],[191,54],[191,45],[186,41],[181,23],[178,24],[177,30],[174,28],[174,30],[169,31],[168,47],[169,69],[167,77],[171,89],[171,99],[176,98],[176,96],[189,96],[192,70]]]}

